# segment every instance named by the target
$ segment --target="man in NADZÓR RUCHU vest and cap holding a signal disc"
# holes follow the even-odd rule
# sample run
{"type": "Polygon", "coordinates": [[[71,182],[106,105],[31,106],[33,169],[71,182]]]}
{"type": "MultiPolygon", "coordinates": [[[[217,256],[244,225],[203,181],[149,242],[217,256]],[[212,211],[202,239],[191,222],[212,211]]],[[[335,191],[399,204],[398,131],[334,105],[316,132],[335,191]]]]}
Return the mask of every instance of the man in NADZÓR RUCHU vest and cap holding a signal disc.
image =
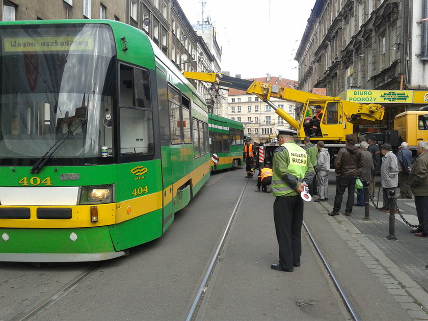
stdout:
{"type": "Polygon", "coordinates": [[[274,153],[272,193],[274,202],[275,231],[279,245],[279,262],[271,269],[293,272],[300,266],[302,254],[301,229],[303,199],[300,193],[315,177],[306,151],[293,141],[295,130],[278,128],[278,144],[274,153]]]}

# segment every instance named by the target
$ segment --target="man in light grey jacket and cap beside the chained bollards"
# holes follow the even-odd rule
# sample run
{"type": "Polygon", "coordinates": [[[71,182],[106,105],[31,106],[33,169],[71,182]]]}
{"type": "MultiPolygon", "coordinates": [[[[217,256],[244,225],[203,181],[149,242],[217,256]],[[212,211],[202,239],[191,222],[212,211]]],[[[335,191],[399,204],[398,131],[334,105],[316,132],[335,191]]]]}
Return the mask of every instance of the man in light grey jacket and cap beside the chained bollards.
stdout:
{"type": "Polygon", "coordinates": [[[390,144],[383,144],[381,153],[383,155],[381,164],[383,206],[380,210],[389,213],[389,192],[393,190],[395,198],[395,189],[398,186],[398,161],[390,144]]]}

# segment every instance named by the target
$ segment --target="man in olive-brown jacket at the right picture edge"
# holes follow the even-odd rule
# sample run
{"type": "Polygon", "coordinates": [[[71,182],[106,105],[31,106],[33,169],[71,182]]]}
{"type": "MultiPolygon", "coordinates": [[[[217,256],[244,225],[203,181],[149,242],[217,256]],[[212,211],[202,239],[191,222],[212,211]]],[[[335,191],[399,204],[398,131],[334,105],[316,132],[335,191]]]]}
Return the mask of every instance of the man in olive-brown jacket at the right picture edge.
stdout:
{"type": "Polygon", "coordinates": [[[416,214],[419,227],[411,230],[416,236],[428,236],[428,143],[419,142],[418,157],[410,171],[410,188],[415,196],[416,214]]]}

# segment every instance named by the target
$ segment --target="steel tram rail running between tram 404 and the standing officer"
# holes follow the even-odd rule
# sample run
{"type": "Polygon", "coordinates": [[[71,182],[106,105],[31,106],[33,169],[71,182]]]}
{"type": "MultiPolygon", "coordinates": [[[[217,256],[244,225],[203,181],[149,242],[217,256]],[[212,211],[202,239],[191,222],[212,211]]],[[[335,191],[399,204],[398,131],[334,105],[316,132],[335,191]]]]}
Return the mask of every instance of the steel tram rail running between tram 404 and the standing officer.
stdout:
{"type": "Polygon", "coordinates": [[[235,218],[235,216],[236,216],[236,212],[237,212],[237,210],[238,210],[238,207],[239,207],[240,203],[242,202],[242,199],[243,199],[243,196],[244,196],[245,189],[247,188],[247,185],[248,185],[248,181],[249,181],[249,180],[247,180],[247,182],[244,184],[244,188],[242,189],[242,192],[240,193],[240,195],[239,195],[239,197],[238,197],[238,200],[236,201],[235,207],[234,207],[234,208],[233,208],[233,210],[232,210],[232,213],[231,213],[231,215],[230,215],[229,221],[227,222],[227,225],[226,225],[225,231],[224,231],[224,233],[223,233],[223,236],[222,236],[222,238],[221,238],[221,240],[220,240],[220,242],[219,242],[219,245],[218,245],[218,247],[217,247],[217,250],[216,250],[216,252],[214,253],[214,255],[212,256],[211,262],[210,262],[210,264],[209,264],[209,266],[208,266],[208,269],[207,269],[207,271],[206,271],[206,273],[205,273],[205,276],[204,276],[204,278],[203,278],[203,280],[202,280],[201,284],[199,285],[199,288],[198,288],[198,291],[197,291],[196,297],[195,297],[195,299],[194,299],[194,301],[193,301],[193,304],[192,304],[192,306],[191,306],[191,308],[190,308],[190,310],[189,310],[189,313],[188,313],[188,315],[187,315],[187,317],[186,317],[186,321],[191,321],[191,320],[193,319],[193,317],[196,315],[196,312],[197,312],[197,309],[196,309],[196,308],[197,308],[197,306],[198,306],[198,303],[199,303],[199,302],[202,300],[202,298],[203,298],[203,295],[204,295],[204,292],[205,292],[205,291],[204,291],[204,288],[207,286],[207,283],[208,283],[209,277],[210,277],[210,275],[211,275],[211,273],[212,273],[213,269],[215,268],[215,265],[216,265],[216,264],[217,264],[217,262],[218,262],[219,254],[220,254],[220,250],[222,249],[222,247],[223,247],[223,245],[224,245],[224,243],[225,243],[226,236],[228,235],[228,233],[229,233],[229,231],[230,231],[230,227],[231,227],[232,222],[233,222],[233,220],[234,220],[234,218],[235,218]]]}

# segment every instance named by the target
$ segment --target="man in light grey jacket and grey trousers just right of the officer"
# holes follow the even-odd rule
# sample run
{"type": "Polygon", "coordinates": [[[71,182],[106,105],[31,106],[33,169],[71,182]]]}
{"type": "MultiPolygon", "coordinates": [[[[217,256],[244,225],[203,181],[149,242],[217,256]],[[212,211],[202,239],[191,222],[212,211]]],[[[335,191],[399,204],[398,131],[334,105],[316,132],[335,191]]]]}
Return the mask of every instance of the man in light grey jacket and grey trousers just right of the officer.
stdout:
{"type": "Polygon", "coordinates": [[[318,199],[315,202],[324,202],[329,199],[330,154],[327,148],[324,148],[323,141],[318,141],[316,147],[318,148],[318,157],[316,159],[315,173],[318,199]]]}

